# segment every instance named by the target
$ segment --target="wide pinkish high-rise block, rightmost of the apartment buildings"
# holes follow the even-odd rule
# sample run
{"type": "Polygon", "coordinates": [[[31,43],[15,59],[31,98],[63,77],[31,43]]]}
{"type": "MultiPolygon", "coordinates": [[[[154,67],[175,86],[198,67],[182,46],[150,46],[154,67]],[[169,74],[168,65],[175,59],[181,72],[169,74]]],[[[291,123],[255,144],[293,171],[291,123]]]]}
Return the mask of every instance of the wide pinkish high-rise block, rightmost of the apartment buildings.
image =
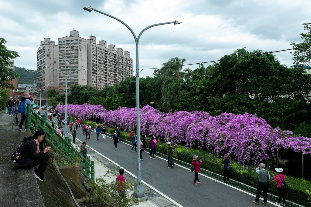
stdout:
{"type": "Polygon", "coordinates": [[[120,83],[126,77],[132,77],[133,60],[130,53],[104,40],[96,43],[96,37],[87,41],[87,85],[104,88],[120,83]]]}

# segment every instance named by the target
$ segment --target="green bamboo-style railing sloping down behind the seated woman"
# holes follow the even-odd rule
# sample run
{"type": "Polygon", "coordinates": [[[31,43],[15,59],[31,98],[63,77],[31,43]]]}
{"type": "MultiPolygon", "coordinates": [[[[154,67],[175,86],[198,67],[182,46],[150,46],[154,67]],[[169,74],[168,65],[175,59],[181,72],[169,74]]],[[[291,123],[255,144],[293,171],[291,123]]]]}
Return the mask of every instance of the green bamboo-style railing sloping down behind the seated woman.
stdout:
{"type": "Polygon", "coordinates": [[[71,139],[68,137],[63,138],[47,121],[46,115],[38,115],[31,105],[27,105],[27,121],[26,132],[30,130],[37,131],[37,128],[42,129],[47,134],[46,142],[48,142],[53,149],[61,154],[64,158],[78,157],[76,159],[82,166],[82,174],[89,180],[95,180],[94,161],[90,161],[90,157],[83,155],[71,144],[71,139]],[[90,177],[91,175],[91,177],[90,177]]]}

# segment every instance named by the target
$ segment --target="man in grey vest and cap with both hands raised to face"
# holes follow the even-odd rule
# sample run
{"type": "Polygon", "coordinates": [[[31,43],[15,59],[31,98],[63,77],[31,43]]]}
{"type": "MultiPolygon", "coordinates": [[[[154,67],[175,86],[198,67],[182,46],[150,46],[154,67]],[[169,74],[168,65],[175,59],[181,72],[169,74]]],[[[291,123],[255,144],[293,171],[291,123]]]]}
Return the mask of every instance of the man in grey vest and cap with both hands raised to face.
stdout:
{"type": "Polygon", "coordinates": [[[257,188],[257,195],[255,200],[253,200],[254,204],[259,205],[259,198],[261,191],[263,191],[263,205],[267,205],[267,190],[268,190],[268,179],[270,180],[270,174],[267,170],[265,170],[266,165],[263,163],[258,164],[256,168],[256,173],[259,175],[259,183],[257,188]]]}

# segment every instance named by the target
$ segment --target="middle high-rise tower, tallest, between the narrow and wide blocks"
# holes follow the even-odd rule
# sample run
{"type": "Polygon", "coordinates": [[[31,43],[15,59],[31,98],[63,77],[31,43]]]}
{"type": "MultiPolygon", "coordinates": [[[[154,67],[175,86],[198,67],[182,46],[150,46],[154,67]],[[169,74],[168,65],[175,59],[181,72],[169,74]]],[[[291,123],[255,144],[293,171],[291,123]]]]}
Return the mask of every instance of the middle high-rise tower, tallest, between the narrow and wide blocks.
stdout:
{"type": "MultiPolygon", "coordinates": [[[[69,36],[58,38],[59,46],[59,70],[68,74],[74,70],[86,69],[87,67],[87,41],[79,37],[77,30],[69,31],[69,36]]],[[[66,77],[59,73],[59,90],[65,90],[66,77]]],[[[87,85],[87,73],[85,70],[72,72],[67,78],[67,89],[71,85],[87,85]]]]}

